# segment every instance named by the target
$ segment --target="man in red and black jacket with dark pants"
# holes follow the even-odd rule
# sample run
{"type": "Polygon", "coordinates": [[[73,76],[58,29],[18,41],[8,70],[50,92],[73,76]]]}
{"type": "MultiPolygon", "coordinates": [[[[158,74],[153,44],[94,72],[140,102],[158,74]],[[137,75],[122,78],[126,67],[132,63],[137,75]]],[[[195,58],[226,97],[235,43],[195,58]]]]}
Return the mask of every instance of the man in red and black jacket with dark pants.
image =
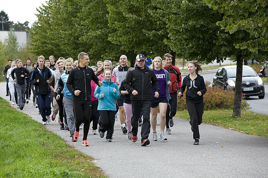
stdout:
{"type": "Polygon", "coordinates": [[[174,65],[172,65],[172,55],[166,53],[164,55],[164,60],[166,65],[163,67],[169,72],[170,82],[172,84],[169,86],[169,94],[171,99],[169,100],[169,105],[166,111],[166,134],[171,134],[171,130],[169,128],[173,127],[173,117],[177,111],[177,92],[181,87],[181,72],[180,69],[174,65]]]}

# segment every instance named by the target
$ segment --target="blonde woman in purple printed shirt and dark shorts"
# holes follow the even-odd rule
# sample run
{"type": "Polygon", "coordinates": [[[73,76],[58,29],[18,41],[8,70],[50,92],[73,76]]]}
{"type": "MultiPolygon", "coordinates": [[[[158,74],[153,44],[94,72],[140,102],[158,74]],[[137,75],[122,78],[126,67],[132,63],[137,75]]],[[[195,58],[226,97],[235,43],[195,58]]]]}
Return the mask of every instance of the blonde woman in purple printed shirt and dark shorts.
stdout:
{"type": "MultiPolygon", "coordinates": [[[[166,110],[167,106],[170,100],[169,95],[169,89],[168,85],[171,85],[172,83],[169,81],[169,75],[168,71],[162,68],[163,63],[161,57],[157,56],[152,61],[151,68],[153,69],[155,76],[158,80],[158,85],[160,88],[159,97],[155,98],[153,96],[152,102],[151,102],[151,123],[152,123],[152,141],[157,141],[157,134],[156,134],[156,124],[157,124],[157,106],[159,106],[160,111],[160,137],[161,140],[168,140],[165,137],[165,124],[166,124],[166,110]]],[[[154,93],[154,87],[152,87],[152,91],[154,93]]]]}

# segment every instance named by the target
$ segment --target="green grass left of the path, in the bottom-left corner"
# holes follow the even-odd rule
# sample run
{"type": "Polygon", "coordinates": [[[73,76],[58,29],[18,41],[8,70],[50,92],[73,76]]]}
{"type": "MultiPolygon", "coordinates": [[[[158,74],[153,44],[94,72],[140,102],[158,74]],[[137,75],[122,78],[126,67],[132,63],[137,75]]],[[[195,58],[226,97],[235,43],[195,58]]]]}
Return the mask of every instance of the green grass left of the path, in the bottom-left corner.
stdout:
{"type": "Polygon", "coordinates": [[[0,177],[104,177],[92,157],[0,98],[0,177]]]}

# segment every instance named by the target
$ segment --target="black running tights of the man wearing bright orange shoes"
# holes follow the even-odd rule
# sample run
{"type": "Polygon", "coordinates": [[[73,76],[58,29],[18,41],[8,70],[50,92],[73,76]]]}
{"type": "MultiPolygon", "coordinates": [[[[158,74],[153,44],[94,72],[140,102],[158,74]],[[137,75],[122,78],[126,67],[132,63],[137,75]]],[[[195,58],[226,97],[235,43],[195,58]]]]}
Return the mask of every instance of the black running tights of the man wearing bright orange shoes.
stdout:
{"type": "Polygon", "coordinates": [[[84,122],[83,140],[87,140],[90,126],[91,100],[73,100],[73,108],[75,109],[75,131],[79,132],[79,126],[84,122]]]}

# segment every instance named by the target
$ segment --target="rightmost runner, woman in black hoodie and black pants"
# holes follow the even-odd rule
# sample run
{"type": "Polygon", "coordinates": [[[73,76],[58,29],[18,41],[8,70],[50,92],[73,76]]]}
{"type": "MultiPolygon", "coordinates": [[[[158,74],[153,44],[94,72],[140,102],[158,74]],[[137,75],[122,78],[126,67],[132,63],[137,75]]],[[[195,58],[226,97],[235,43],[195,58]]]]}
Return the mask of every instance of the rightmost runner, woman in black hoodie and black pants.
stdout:
{"type": "Polygon", "coordinates": [[[204,78],[198,74],[198,72],[202,71],[201,64],[198,61],[189,61],[188,71],[190,74],[184,77],[178,96],[183,96],[183,92],[187,86],[186,105],[190,116],[193,139],[195,140],[193,144],[199,145],[200,135],[198,125],[202,123],[202,115],[204,113],[203,95],[207,89],[204,78]]]}

